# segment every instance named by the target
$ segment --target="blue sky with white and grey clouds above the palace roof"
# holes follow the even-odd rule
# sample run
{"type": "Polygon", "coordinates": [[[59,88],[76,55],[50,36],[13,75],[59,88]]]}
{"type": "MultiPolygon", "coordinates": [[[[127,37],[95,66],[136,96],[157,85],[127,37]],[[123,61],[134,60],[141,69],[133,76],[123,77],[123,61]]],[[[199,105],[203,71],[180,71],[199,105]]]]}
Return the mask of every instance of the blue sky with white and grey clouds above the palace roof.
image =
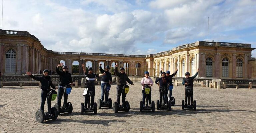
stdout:
{"type": "Polygon", "coordinates": [[[256,0],[3,0],[2,29],[53,51],[148,55],[207,40],[256,48],[255,14],[256,0]]]}

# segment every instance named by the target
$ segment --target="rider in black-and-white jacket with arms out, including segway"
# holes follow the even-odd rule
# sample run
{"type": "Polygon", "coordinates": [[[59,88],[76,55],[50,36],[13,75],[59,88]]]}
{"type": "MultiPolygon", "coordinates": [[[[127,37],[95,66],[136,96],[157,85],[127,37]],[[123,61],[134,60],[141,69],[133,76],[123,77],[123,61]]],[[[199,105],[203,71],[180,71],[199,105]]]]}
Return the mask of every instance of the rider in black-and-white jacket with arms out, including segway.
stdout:
{"type": "Polygon", "coordinates": [[[94,96],[95,96],[95,85],[94,81],[95,78],[105,75],[103,74],[93,74],[92,67],[88,68],[88,72],[85,69],[84,64],[82,64],[84,75],[86,77],[86,89],[84,90],[83,96],[85,96],[84,103],[81,103],[81,115],[87,112],[94,112],[94,114],[97,114],[97,103],[94,102],[94,96]],[[91,102],[90,102],[91,98],[91,102]],[[88,107],[87,107],[88,104],[88,107]]]}

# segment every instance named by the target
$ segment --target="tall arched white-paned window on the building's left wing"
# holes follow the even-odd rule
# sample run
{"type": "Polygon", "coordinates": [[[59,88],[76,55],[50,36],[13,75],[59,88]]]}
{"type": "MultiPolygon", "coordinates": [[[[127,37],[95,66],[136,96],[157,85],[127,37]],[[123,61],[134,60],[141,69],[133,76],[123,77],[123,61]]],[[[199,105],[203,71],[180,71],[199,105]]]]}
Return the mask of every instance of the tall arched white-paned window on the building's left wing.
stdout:
{"type": "Polygon", "coordinates": [[[5,72],[15,72],[16,66],[16,52],[13,49],[9,49],[6,52],[6,59],[5,59],[5,72]]]}

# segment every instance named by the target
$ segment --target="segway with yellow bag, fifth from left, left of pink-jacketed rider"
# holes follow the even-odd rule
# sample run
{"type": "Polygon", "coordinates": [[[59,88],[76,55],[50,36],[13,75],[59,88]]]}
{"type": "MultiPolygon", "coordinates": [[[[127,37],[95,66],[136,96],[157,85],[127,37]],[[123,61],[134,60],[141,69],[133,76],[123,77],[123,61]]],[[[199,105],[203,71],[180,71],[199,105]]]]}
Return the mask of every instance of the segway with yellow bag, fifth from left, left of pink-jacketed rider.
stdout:
{"type": "MultiPolygon", "coordinates": [[[[129,92],[129,86],[128,86],[128,84],[125,84],[124,86],[123,86],[123,90],[122,91],[124,91],[125,92],[125,94],[127,94],[128,92],[129,92]]],[[[130,110],[130,104],[129,104],[129,102],[128,101],[125,101],[125,106],[122,106],[122,105],[118,105],[118,103],[117,102],[114,102],[114,104],[113,104],[113,111],[115,112],[115,113],[117,113],[118,111],[125,111],[125,112],[129,112],[129,110],[130,110]]]]}

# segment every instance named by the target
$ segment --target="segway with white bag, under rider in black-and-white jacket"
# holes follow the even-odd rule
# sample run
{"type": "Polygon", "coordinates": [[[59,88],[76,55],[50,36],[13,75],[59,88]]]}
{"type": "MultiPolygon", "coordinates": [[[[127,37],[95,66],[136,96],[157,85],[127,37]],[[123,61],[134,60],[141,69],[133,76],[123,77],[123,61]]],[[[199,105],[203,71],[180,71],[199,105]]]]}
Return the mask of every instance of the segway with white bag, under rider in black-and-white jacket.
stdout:
{"type": "Polygon", "coordinates": [[[90,113],[90,112],[94,112],[94,114],[97,114],[97,103],[94,102],[93,103],[93,108],[90,107],[90,97],[93,95],[93,89],[95,89],[95,87],[88,87],[84,90],[84,96],[88,95],[88,108],[84,108],[84,103],[81,103],[81,115],[83,115],[84,113],[90,113]]]}

